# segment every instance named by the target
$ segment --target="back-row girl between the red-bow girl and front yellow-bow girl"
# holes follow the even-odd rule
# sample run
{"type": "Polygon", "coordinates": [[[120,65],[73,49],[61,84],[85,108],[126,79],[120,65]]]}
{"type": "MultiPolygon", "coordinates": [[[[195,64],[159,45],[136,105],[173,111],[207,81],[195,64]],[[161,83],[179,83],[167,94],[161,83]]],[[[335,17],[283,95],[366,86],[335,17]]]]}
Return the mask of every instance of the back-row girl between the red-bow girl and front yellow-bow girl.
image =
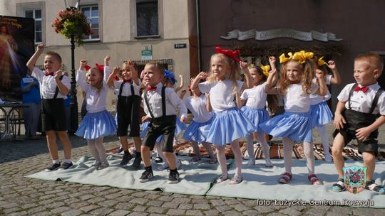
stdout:
{"type": "Polygon", "coordinates": [[[253,79],[252,84],[254,85],[251,89],[245,90],[240,97],[243,106],[241,108],[242,112],[255,125],[255,131],[248,134],[246,137],[247,153],[250,157],[247,163],[248,166],[255,165],[254,137],[257,137],[262,146],[262,152],[265,155],[265,166],[273,166],[272,161],[270,161],[270,148],[265,139],[265,131],[259,126],[262,122],[269,119],[269,113],[265,109],[266,101],[268,102],[269,109],[272,113],[274,113],[274,109],[277,105],[277,102],[273,97],[267,99],[267,94],[272,91],[273,84],[277,81],[277,76],[270,75],[269,73],[270,68],[272,68],[272,73],[275,74],[276,72],[274,56],[270,56],[269,61],[272,67],[267,65],[261,66],[261,68],[252,65],[252,68],[250,69],[244,68],[244,70],[249,70],[253,79]]]}

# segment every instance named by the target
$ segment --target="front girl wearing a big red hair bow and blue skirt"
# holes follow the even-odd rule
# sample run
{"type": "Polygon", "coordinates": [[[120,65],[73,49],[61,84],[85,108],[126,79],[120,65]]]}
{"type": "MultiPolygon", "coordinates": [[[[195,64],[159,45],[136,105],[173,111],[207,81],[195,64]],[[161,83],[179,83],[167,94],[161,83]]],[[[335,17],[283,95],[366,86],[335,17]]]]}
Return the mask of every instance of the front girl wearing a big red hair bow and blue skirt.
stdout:
{"type": "Polygon", "coordinates": [[[217,183],[221,183],[228,178],[225,145],[230,144],[235,156],[235,176],[230,180],[230,184],[237,184],[243,180],[242,177],[242,153],[238,139],[247,136],[255,130],[254,124],[245,117],[243,112],[237,108],[235,97],[239,98],[242,88],[252,87],[252,77],[245,71],[247,86],[239,80],[240,65],[244,67],[246,63],[240,62],[236,57],[239,50],[223,50],[216,47],[217,53],[211,56],[210,74],[200,72],[191,84],[191,90],[199,87],[200,92],[210,94],[210,105],[215,112],[210,129],[207,133],[207,142],[215,144],[217,147],[217,158],[220,163],[222,175],[217,178],[217,183]],[[207,81],[199,83],[200,80],[207,78],[207,81]]]}

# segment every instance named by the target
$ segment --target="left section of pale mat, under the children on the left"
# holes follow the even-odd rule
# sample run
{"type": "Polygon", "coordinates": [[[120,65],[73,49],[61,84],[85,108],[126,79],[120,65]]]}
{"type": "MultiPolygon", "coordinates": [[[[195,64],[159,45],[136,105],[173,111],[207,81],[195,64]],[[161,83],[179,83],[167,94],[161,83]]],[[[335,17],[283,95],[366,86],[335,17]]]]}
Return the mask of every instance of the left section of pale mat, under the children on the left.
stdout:
{"type": "Polygon", "coordinates": [[[110,166],[101,171],[91,168],[93,158],[83,156],[76,162],[73,168],[66,171],[41,171],[26,177],[38,178],[43,180],[63,180],[73,183],[82,183],[90,185],[108,185],[116,188],[129,188],[137,190],[155,190],[160,188],[168,193],[182,193],[188,195],[205,195],[210,189],[210,184],[220,175],[218,164],[211,165],[208,159],[202,159],[197,163],[190,163],[190,157],[178,157],[181,159],[183,166],[179,170],[180,183],[168,184],[168,171],[157,171],[156,168],[160,163],[153,163],[154,178],[147,183],[140,183],[138,179],[143,173],[142,168],[134,170],[130,165],[120,167],[121,156],[109,155],[108,162],[110,166]],[[206,161],[204,161],[206,160],[206,161]]]}

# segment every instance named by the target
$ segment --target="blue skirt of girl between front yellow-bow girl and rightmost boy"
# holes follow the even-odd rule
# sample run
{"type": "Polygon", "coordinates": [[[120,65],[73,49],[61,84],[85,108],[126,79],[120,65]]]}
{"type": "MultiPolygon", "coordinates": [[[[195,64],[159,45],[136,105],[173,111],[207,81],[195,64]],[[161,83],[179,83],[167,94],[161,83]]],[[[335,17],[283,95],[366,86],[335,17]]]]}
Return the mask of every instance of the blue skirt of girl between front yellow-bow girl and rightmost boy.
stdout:
{"type": "Polygon", "coordinates": [[[310,121],[312,121],[312,127],[322,126],[333,121],[333,114],[332,111],[330,111],[327,102],[311,105],[309,114],[310,121]]]}

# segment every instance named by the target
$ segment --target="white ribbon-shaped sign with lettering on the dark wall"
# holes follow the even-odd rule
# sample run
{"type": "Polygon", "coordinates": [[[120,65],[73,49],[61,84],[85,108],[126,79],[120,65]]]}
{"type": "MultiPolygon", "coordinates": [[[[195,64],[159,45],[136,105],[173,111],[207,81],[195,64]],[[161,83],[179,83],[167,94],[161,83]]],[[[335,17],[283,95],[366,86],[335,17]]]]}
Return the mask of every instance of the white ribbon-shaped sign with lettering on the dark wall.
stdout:
{"type": "Polygon", "coordinates": [[[221,38],[226,40],[237,39],[240,41],[245,41],[252,38],[257,41],[265,41],[274,38],[294,38],[300,41],[342,41],[342,39],[337,38],[334,33],[320,33],[318,31],[297,31],[292,28],[275,28],[266,31],[256,31],[255,29],[239,31],[238,29],[235,29],[228,32],[227,36],[221,36],[221,38]]]}

